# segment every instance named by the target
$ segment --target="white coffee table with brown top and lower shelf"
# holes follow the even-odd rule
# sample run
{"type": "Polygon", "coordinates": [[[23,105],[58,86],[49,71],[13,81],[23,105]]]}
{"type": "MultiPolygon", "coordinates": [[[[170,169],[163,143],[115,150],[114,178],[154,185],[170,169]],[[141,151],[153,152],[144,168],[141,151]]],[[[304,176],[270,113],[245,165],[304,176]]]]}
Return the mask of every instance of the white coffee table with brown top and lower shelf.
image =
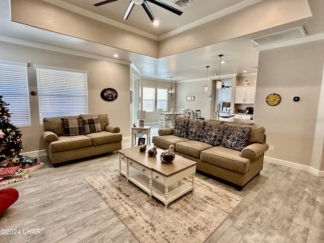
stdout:
{"type": "Polygon", "coordinates": [[[131,147],[117,150],[119,158],[119,172],[128,181],[133,182],[158,200],[168,205],[194,189],[194,174],[196,162],[176,155],[172,164],[161,163],[162,149],[157,149],[156,157],[147,156],[146,152],[140,152],[139,147],[131,147]],[[183,179],[190,177],[191,181],[183,179]]]}

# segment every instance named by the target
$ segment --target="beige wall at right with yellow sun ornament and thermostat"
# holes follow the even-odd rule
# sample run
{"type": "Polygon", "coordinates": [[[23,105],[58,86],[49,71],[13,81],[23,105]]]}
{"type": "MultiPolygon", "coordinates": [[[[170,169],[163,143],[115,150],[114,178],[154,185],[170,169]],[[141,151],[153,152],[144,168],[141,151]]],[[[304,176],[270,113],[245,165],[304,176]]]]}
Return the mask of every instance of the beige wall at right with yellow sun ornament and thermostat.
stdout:
{"type": "Polygon", "coordinates": [[[324,41],[259,53],[254,122],[265,127],[267,143],[274,145],[266,156],[324,170],[323,59],[324,41]],[[271,93],[281,96],[279,105],[266,104],[271,93]]]}

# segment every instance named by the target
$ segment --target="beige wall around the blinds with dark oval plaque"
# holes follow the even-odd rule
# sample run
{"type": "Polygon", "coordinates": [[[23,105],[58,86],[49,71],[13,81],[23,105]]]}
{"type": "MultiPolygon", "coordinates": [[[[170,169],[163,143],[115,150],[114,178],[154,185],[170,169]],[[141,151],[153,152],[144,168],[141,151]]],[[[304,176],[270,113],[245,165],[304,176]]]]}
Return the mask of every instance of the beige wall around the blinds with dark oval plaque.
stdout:
{"type": "MultiPolygon", "coordinates": [[[[107,113],[110,124],[119,126],[123,137],[130,136],[130,67],[91,58],[73,56],[15,44],[0,42],[0,59],[88,70],[89,113],[107,113]],[[104,88],[113,88],[118,98],[112,102],[101,99],[104,88]],[[126,112],[120,112],[125,110],[126,112]],[[118,114],[118,115],[117,115],[118,114]]],[[[35,72],[28,68],[29,89],[36,90],[35,72]]],[[[37,96],[29,96],[31,127],[19,127],[22,133],[23,152],[44,149],[39,125],[37,96]]],[[[10,110],[10,106],[8,107],[10,110]]]]}

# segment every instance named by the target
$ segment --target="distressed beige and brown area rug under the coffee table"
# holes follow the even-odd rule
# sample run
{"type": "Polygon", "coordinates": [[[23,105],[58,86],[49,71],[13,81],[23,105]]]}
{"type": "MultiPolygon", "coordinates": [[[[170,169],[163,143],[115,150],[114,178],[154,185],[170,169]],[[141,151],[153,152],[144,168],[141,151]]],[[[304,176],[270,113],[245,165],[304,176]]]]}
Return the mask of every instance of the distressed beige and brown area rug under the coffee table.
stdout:
{"type": "Polygon", "coordinates": [[[149,196],[118,170],[85,178],[142,243],[204,242],[238,206],[241,197],[195,178],[195,188],[169,204],[149,196]]]}

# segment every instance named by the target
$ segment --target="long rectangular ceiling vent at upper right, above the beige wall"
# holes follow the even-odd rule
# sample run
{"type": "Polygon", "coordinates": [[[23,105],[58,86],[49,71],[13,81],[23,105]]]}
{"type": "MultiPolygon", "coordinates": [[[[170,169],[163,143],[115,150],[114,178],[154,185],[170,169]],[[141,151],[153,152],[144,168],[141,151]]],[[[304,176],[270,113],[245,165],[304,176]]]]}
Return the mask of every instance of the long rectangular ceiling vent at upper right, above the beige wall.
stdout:
{"type": "Polygon", "coordinates": [[[306,36],[306,33],[304,28],[301,26],[301,27],[273,33],[273,34],[252,38],[250,39],[250,41],[261,46],[261,45],[271,44],[275,42],[287,41],[288,39],[298,38],[302,36],[306,36]]]}

